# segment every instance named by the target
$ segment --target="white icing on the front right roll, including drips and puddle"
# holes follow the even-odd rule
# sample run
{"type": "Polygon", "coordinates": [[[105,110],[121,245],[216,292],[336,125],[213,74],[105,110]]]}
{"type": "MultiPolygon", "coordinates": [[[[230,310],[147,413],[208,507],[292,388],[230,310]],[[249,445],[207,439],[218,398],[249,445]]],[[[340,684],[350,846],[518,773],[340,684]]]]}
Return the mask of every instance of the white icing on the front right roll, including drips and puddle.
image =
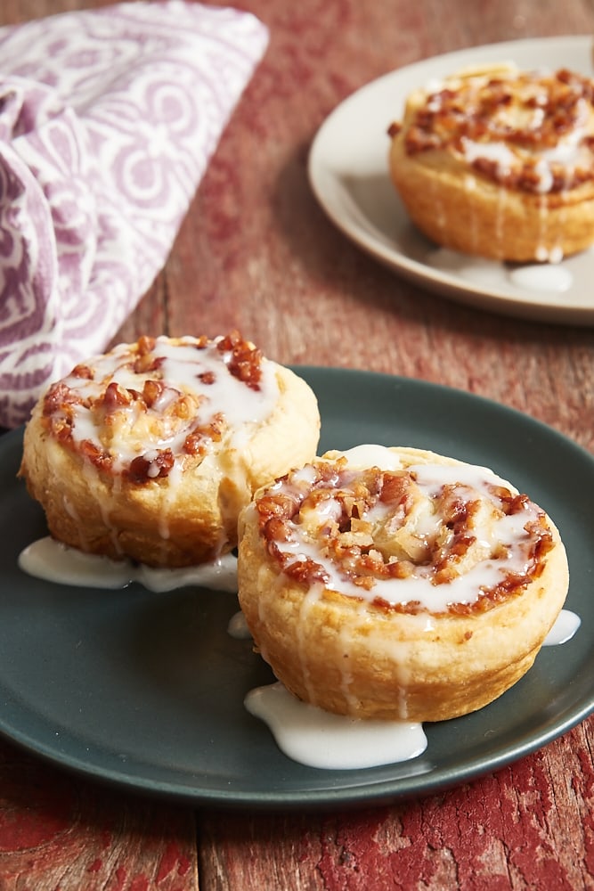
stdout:
{"type": "MultiPolygon", "coordinates": [[[[365,469],[378,467],[380,470],[400,470],[403,467],[399,455],[384,446],[357,446],[345,453],[331,453],[326,457],[328,461],[335,461],[338,455],[344,455],[351,469],[365,469]]],[[[321,459],[324,460],[324,459],[321,459]]],[[[471,500],[484,499],[488,505],[486,513],[478,513],[476,525],[472,529],[474,535],[487,553],[491,553],[494,545],[505,544],[507,556],[499,561],[497,558],[488,558],[471,568],[464,576],[455,579],[452,583],[435,585],[431,584],[428,575],[424,575],[424,568],[418,568],[417,575],[407,579],[394,579],[381,581],[376,584],[370,593],[370,599],[380,596],[391,602],[404,602],[407,598],[421,601],[429,610],[420,612],[417,616],[407,617],[407,620],[418,621],[421,628],[431,631],[434,627],[433,612],[447,609],[450,602],[473,602],[476,600],[481,588],[496,584],[500,578],[500,572],[508,573],[517,571],[522,573],[526,568],[527,550],[525,544],[529,540],[525,526],[538,516],[538,508],[529,503],[517,513],[508,515],[496,511],[495,519],[492,519],[491,503],[497,506],[498,497],[493,494],[492,486],[503,486],[510,490],[509,483],[498,477],[491,470],[483,467],[460,464],[435,464],[431,463],[430,455],[427,455],[427,463],[416,463],[407,467],[415,477],[416,486],[422,493],[419,501],[419,511],[415,515],[415,528],[419,537],[435,535],[441,522],[431,509],[431,499],[438,496],[443,486],[450,484],[460,488],[460,495],[468,496],[471,500]],[[498,562],[503,565],[498,566],[498,562]],[[452,594],[455,589],[455,597],[452,594]],[[441,591],[439,590],[441,588],[441,591]]],[[[286,490],[288,495],[297,495],[299,486],[309,486],[316,480],[312,469],[305,468],[295,477],[289,477],[287,482],[281,481],[275,486],[275,492],[286,490]]],[[[337,475],[339,485],[339,477],[337,475]]],[[[322,486],[323,488],[323,486],[322,486]]],[[[340,512],[338,501],[333,499],[331,493],[328,498],[321,501],[313,499],[313,511],[317,513],[319,525],[323,527],[326,519],[337,519],[340,512]]],[[[252,507],[251,510],[255,510],[252,507]]],[[[380,523],[383,515],[390,509],[384,503],[376,503],[364,519],[371,523],[380,523]]],[[[365,597],[367,593],[361,587],[346,581],[342,577],[340,569],[335,567],[332,561],[325,559],[318,546],[317,537],[308,538],[308,533],[303,530],[312,526],[309,519],[301,514],[301,522],[291,525],[289,540],[275,540],[277,547],[282,552],[295,560],[311,558],[321,564],[328,573],[329,580],[314,583],[310,586],[302,601],[300,615],[297,619],[297,658],[301,661],[301,674],[305,679],[307,691],[306,703],[293,697],[281,683],[274,683],[266,687],[260,687],[249,691],[245,699],[248,712],[260,718],[267,724],[281,751],[293,760],[315,768],[327,770],[361,769],[377,766],[379,764],[394,764],[413,759],[427,746],[422,724],[407,720],[406,700],[404,690],[410,685],[411,678],[407,676],[406,666],[401,665],[401,674],[395,682],[395,701],[400,701],[399,718],[394,721],[368,721],[354,719],[339,715],[331,715],[321,708],[316,707],[315,691],[313,684],[308,684],[308,664],[305,658],[305,650],[300,646],[299,635],[305,634],[308,627],[308,613],[313,604],[321,596],[324,586],[340,591],[352,593],[357,598],[360,609],[365,609],[365,597]]],[[[363,518],[361,518],[363,519],[363,518]]],[[[313,523],[313,528],[317,524],[313,523]]],[[[286,530],[285,530],[286,531],[286,530]]],[[[284,538],[284,535],[281,536],[284,538]]],[[[260,609],[263,609],[262,602],[260,609]]],[[[261,615],[265,622],[265,616],[261,615]]],[[[549,632],[547,645],[566,642],[569,640],[580,624],[579,617],[568,610],[562,610],[557,622],[549,632]]],[[[381,661],[387,653],[387,648],[392,649],[397,644],[387,642],[381,632],[373,634],[369,641],[370,650],[378,654],[381,661]]],[[[388,654],[399,662],[398,654],[388,654]]],[[[262,656],[266,659],[266,654],[262,656]]],[[[346,667],[341,676],[341,689],[346,702],[352,696],[350,693],[351,677],[346,667]]]]}

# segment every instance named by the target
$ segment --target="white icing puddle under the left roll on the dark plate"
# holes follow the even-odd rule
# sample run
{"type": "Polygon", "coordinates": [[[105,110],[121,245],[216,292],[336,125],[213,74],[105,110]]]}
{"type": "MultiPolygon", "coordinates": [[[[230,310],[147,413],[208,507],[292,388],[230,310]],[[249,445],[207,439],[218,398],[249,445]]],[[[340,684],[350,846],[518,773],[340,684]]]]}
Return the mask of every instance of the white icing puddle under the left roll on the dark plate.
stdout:
{"type": "Polygon", "coordinates": [[[110,560],[56,542],[49,535],[29,544],[19,555],[19,566],[29,576],[85,588],[125,588],[138,582],[149,591],[173,591],[188,585],[216,591],[237,591],[237,560],[224,554],[210,563],[175,569],[110,560]]]}

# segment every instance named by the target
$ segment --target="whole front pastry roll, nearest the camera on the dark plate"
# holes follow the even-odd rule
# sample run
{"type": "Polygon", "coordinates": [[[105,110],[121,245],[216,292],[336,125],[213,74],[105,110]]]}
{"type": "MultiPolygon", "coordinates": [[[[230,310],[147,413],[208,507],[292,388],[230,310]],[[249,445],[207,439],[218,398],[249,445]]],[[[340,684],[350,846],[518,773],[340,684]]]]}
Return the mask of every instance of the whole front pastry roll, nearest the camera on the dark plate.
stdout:
{"type": "Polygon", "coordinates": [[[240,516],[241,609],[299,699],[440,721],[533,665],[566,598],[557,528],[491,470],[413,448],[330,452],[240,516]]]}

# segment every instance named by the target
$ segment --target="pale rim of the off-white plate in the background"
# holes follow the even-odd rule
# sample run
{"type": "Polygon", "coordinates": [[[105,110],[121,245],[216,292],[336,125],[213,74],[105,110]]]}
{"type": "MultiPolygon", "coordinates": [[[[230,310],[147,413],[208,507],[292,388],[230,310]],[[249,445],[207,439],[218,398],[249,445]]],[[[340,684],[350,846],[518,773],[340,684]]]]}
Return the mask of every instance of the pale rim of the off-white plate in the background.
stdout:
{"type": "MultiPolygon", "coordinates": [[[[522,37],[516,40],[505,40],[490,44],[462,47],[460,50],[454,50],[448,53],[440,53],[434,56],[427,56],[418,61],[413,61],[402,67],[392,69],[384,74],[374,78],[362,86],[357,87],[345,99],[338,102],[327,117],[321,122],[316,133],[313,135],[313,141],[307,157],[307,179],[315,199],[320,205],[330,221],[343,233],[349,241],[352,241],[365,253],[373,257],[383,266],[387,266],[395,274],[401,275],[403,278],[413,282],[420,287],[436,293],[440,296],[452,298],[457,302],[473,306],[476,308],[476,298],[479,296],[482,301],[482,308],[492,310],[493,312],[503,315],[520,316],[530,321],[541,321],[544,323],[564,323],[574,325],[590,326],[594,324],[594,304],[591,307],[578,306],[576,304],[563,304],[561,299],[556,302],[538,302],[535,300],[526,301],[521,298],[506,293],[496,288],[477,288],[472,282],[465,280],[461,276],[452,274],[447,270],[440,270],[432,266],[409,257],[402,250],[396,247],[387,248],[380,241],[373,238],[370,232],[356,225],[356,221],[351,217],[346,217],[340,212],[337,203],[329,199],[325,192],[323,181],[324,177],[333,177],[333,183],[338,183],[338,177],[332,174],[331,168],[327,163],[327,155],[325,154],[324,143],[336,127],[336,122],[349,110],[351,104],[362,101],[365,94],[374,92],[387,83],[397,81],[399,79],[408,78],[419,72],[419,82],[427,80],[427,75],[423,76],[423,70],[428,65],[443,64],[448,67],[450,63],[453,66],[460,67],[460,64],[468,64],[468,60],[476,53],[525,53],[528,49],[533,50],[538,45],[557,45],[559,49],[567,46],[579,46],[586,49],[588,46],[592,48],[594,53],[594,37],[590,35],[557,35],[549,37],[522,37]]],[[[593,54],[594,58],[594,54],[593,54]]],[[[594,67],[594,62],[593,62],[594,67]]],[[[394,115],[392,115],[394,117],[394,115]]],[[[387,120],[389,123],[389,120],[387,120]]],[[[386,149],[386,158],[388,147],[386,149]]],[[[388,174],[388,168],[386,167],[388,174]]],[[[352,196],[351,196],[352,197],[352,196]]],[[[359,208],[359,205],[357,205],[359,208]]],[[[405,211],[404,211],[405,212],[405,211]]]]}

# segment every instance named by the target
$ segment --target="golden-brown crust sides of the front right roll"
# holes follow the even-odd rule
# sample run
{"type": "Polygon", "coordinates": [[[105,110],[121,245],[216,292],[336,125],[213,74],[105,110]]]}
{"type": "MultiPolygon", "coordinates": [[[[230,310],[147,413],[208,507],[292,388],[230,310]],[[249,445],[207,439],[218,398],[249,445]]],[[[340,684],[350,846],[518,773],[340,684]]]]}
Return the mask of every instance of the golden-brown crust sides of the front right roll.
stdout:
{"type": "MultiPolygon", "coordinates": [[[[414,449],[390,451],[404,466],[467,466],[414,449]]],[[[565,549],[548,517],[550,548],[538,572],[488,609],[469,611],[401,611],[358,599],[347,584],[347,593],[303,584],[282,571],[260,519],[253,505],[240,518],[248,627],[290,691],[338,714],[437,721],[483,707],[532,666],[565,601],[565,549]]]]}

